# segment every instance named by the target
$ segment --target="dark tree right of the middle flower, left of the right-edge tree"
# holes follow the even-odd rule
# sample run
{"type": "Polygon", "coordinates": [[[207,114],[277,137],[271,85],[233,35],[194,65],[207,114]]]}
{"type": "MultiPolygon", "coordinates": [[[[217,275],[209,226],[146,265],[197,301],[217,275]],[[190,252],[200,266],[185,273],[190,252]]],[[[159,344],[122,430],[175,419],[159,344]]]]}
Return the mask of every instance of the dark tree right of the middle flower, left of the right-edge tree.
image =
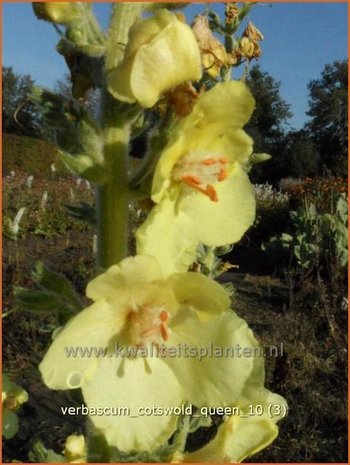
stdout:
{"type": "Polygon", "coordinates": [[[255,152],[267,152],[273,157],[273,162],[257,165],[252,170],[252,178],[255,182],[274,182],[285,175],[282,152],[286,126],[292,113],[280,96],[280,82],[262,71],[259,65],[251,68],[247,84],[255,98],[256,108],[245,129],[254,139],[255,152]]]}

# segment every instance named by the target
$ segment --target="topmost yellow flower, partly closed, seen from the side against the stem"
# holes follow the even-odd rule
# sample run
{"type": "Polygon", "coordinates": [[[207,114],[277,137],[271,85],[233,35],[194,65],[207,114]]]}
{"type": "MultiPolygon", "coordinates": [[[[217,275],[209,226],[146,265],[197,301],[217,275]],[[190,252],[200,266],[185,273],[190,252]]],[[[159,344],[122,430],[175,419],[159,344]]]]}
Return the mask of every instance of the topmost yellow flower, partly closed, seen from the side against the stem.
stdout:
{"type": "Polygon", "coordinates": [[[201,77],[200,52],[190,27],[167,10],[130,30],[123,62],[107,76],[118,100],[152,107],[172,87],[201,77]]]}

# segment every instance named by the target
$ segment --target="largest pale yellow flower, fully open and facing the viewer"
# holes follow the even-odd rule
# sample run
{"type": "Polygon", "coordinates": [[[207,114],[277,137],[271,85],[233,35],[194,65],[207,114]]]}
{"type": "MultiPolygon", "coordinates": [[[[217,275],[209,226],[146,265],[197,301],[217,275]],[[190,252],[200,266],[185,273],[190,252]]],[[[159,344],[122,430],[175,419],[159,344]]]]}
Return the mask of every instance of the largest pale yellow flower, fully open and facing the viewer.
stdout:
{"type": "Polygon", "coordinates": [[[256,360],[207,351],[257,342],[218,283],[199,273],[164,278],[153,257],[136,256],[91,281],[87,296],[95,302],[58,334],[39,369],[51,389],[81,387],[89,408],[129,409],[91,416],[109,444],[152,450],[175,431],[176,415],[142,415],[140,408],[218,406],[241,397],[256,360]],[[79,348],[107,350],[89,357],[79,348]]]}

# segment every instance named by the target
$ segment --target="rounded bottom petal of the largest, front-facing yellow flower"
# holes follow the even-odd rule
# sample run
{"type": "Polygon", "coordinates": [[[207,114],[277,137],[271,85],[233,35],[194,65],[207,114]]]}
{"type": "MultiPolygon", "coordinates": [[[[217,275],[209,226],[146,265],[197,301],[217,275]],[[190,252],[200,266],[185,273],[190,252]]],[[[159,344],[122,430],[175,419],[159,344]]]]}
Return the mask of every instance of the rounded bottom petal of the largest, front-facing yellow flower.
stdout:
{"type": "Polygon", "coordinates": [[[151,451],[171,436],[176,415],[147,409],[176,407],[183,401],[179,381],[160,359],[104,359],[83,386],[89,408],[127,408],[127,414],[95,415],[91,420],[108,443],[123,451],[151,451]],[[140,411],[141,409],[141,411],[140,411]],[[146,410],[145,410],[146,409],[146,410]]]}

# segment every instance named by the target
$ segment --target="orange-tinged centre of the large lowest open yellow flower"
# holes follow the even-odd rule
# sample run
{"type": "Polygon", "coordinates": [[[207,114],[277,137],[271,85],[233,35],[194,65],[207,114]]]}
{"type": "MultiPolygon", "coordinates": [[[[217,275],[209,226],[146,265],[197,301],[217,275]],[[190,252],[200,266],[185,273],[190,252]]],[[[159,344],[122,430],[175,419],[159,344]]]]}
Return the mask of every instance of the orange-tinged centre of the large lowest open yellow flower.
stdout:
{"type": "Polygon", "coordinates": [[[167,341],[169,313],[162,307],[133,305],[126,318],[126,330],[131,345],[145,347],[167,341]]]}

